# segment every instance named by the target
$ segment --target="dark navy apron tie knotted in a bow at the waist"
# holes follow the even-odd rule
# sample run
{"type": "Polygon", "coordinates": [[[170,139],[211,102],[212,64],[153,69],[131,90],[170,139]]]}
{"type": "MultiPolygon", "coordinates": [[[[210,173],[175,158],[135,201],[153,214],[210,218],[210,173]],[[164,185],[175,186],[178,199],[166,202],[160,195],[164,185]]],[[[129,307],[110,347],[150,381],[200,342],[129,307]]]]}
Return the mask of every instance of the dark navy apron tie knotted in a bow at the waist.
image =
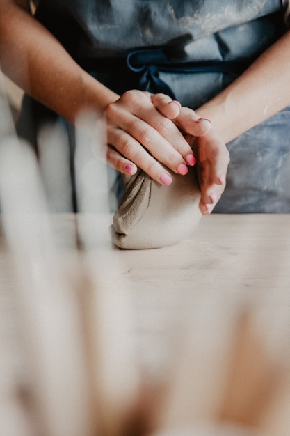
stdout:
{"type": "MultiPolygon", "coordinates": [[[[161,79],[160,72],[172,74],[227,73],[240,75],[253,59],[238,61],[188,61],[185,47],[191,35],[174,38],[162,46],[138,47],[124,56],[101,59],[79,59],[78,63],[98,79],[101,74],[106,85],[122,94],[129,89],[164,93],[178,100],[170,86],[161,79]]],[[[102,79],[101,79],[102,81],[102,79]]]]}

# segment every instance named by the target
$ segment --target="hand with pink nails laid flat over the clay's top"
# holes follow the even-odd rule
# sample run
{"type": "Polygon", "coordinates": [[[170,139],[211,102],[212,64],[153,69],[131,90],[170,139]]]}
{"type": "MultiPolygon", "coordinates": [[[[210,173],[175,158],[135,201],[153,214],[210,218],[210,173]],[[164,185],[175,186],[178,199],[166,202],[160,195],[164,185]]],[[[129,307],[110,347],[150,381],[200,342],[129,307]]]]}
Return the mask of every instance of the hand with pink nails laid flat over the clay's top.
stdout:
{"type": "MultiPolygon", "coordinates": [[[[193,166],[196,159],[184,134],[170,119],[177,120],[181,106],[168,99],[166,107],[159,100],[156,108],[150,93],[132,90],[108,104],[104,110],[108,164],[127,174],[136,173],[139,166],[164,185],[172,182],[166,166],[175,173],[188,172],[187,165],[193,166]]],[[[192,122],[190,132],[204,134],[204,127],[192,122]]]]}

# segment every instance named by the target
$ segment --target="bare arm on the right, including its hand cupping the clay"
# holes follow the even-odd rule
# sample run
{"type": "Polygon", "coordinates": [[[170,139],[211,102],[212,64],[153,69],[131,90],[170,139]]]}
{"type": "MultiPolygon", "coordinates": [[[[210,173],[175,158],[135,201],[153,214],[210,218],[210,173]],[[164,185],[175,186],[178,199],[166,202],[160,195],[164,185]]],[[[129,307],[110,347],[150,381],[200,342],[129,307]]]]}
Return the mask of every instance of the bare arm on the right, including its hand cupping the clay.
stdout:
{"type": "Polygon", "coordinates": [[[188,133],[195,156],[202,198],[200,209],[210,213],[225,189],[229,155],[224,143],[258,125],[290,104],[290,31],[271,46],[243,75],[197,110],[209,117],[211,131],[194,137],[191,111],[182,108],[175,123],[188,133]],[[216,137],[215,137],[216,135],[216,137]]]}

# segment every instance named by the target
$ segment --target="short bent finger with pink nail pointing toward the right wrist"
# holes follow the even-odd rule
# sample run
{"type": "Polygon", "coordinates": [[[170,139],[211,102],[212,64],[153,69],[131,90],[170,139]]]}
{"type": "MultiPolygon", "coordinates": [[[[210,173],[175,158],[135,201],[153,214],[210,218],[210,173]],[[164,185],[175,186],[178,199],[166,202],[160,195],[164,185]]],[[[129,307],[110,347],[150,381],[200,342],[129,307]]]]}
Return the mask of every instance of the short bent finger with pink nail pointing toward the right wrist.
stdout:
{"type": "Polygon", "coordinates": [[[182,132],[195,137],[202,137],[211,130],[211,120],[209,118],[200,118],[193,109],[184,106],[182,106],[179,115],[175,118],[175,124],[182,132]]]}

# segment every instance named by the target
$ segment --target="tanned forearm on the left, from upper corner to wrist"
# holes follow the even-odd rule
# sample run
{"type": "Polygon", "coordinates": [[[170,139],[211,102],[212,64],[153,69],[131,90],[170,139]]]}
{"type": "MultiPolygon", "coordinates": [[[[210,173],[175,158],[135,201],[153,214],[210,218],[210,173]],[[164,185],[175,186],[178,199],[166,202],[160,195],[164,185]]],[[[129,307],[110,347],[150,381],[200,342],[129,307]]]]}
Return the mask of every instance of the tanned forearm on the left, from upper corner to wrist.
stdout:
{"type": "Polygon", "coordinates": [[[83,71],[40,23],[0,0],[3,72],[36,100],[74,123],[79,111],[102,112],[118,95],[83,71]]]}

